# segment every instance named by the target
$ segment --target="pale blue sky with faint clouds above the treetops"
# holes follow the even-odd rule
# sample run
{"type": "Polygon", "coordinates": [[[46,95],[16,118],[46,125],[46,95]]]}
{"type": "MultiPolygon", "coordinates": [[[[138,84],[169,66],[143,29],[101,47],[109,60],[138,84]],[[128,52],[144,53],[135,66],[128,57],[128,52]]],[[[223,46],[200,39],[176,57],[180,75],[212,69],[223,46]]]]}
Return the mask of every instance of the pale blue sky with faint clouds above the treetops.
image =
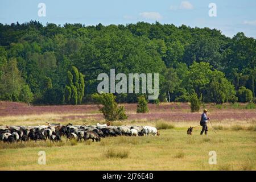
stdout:
{"type": "MultiPolygon", "coordinates": [[[[212,12],[212,11],[211,11],[212,12]]],[[[255,0],[0,0],[0,23],[24,23],[37,20],[43,24],[137,22],[185,24],[209,27],[232,37],[237,32],[256,38],[255,0]],[[42,15],[42,6],[46,7],[42,15]],[[210,3],[216,5],[216,16],[209,16],[210,3]],[[39,13],[38,15],[38,11],[39,13]]]]}

